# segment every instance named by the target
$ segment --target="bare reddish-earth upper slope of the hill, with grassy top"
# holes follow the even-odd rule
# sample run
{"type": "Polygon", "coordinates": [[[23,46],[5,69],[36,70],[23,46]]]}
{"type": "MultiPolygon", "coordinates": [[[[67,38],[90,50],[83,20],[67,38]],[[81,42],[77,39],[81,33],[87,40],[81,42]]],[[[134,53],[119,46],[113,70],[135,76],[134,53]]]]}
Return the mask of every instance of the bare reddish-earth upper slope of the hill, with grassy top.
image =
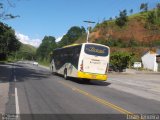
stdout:
{"type": "Polygon", "coordinates": [[[91,34],[91,41],[121,39],[123,41],[135,40],[141,46],[150,45],[160,40],[160,21],[151,24],[148,16],[151,11],[139,13],[128,17],[125,26],[119,27],[115,20],[104,21],[96,25],[91,34]]]}

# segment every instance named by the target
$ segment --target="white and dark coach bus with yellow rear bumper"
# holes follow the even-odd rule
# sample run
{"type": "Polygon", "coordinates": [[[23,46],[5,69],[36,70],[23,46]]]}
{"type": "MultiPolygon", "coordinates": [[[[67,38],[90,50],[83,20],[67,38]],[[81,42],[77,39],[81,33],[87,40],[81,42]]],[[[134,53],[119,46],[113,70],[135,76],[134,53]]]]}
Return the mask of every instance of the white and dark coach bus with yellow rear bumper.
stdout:
{"type": "Polygon", "coordinates": [[[68,77],[107,80],[110,48],[96,43],[82,43],[53,51],[50,69],[52,73],[68,77]]]}

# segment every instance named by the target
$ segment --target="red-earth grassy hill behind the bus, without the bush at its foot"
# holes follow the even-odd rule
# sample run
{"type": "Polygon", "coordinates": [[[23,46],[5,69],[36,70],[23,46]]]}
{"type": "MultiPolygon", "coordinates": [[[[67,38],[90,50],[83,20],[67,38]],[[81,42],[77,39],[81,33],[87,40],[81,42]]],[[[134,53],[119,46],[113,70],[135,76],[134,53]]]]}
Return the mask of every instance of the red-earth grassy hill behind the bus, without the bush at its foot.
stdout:
{"type": "MultiPolygon", "coordinates": [[[[98,23],[90,33],[89,42],[108,45],[112,53],[134,53],[138,61],[145,51],[160,46],[160,9],[126,16],[123,26],[117,24],[119,18],[98,23]]],[[[83,35],[76,43],[85,41],[83,35]]]]}

